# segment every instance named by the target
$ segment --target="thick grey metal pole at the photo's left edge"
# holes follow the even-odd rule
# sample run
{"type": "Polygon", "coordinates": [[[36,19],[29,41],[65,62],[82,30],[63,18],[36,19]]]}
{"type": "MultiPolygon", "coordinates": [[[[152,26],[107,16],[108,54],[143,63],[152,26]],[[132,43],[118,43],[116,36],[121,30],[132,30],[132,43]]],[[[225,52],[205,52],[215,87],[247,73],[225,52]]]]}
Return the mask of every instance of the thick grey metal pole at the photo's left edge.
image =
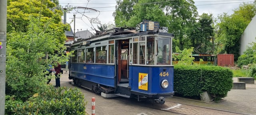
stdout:
{"type": "Polygon", "coordinates": [[[6,77],[7,0],[0,0],[0,115],[4,115],[6,77]]]}

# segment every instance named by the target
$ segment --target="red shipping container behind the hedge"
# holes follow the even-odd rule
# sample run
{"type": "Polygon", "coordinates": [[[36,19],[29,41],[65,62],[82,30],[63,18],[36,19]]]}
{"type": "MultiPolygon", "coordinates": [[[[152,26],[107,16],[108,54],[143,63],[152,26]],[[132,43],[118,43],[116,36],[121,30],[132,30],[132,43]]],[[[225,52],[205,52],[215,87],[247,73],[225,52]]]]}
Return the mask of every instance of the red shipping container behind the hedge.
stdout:
{"type": "Polygon", "coordinates": [[[234,66],[234,54],[218,54],[218,66],[234,66]]]}

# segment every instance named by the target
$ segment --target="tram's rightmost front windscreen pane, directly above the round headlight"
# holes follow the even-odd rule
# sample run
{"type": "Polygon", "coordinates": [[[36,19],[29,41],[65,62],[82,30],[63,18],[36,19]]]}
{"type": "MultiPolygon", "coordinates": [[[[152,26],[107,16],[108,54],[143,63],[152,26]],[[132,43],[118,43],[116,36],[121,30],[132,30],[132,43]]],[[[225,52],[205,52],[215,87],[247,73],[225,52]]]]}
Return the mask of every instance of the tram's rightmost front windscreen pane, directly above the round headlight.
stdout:
{"type": "Polygon", "coordinates": [[[170,38],[158,38],[157,64],[170,64],[170,38]]]}

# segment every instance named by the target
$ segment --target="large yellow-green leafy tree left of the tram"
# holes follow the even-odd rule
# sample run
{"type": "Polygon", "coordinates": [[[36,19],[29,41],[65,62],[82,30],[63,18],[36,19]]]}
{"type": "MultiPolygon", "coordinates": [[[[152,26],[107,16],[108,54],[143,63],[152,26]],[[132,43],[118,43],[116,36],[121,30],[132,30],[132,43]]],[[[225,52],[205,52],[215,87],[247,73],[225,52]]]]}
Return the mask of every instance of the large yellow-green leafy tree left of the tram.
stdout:
{"type": "MultiPolygon", "coordinates": [[[[64,63],[64,30],[62,11],[51,11],[50,0],[8,0],[6,95],[26,101],[46,87],[43,71],[53,61],[64,63]],[[45,59],[46,54],[50,59],[45,59]]],[[[56,65],[56,63],[52,63],[56,65]]]]}

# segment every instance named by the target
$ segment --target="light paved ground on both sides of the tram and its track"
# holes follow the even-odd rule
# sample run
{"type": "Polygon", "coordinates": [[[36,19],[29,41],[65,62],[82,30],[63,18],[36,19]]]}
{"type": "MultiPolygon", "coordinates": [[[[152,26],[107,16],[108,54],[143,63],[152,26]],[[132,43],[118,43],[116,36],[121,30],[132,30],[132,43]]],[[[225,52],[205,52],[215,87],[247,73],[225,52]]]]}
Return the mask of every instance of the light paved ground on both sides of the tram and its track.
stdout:
{"type": "MultiPolygon", "coordinates": [[[[237,78],[233,78],[233,80],[235,82],[237,81],[237,78]]],[[[71,85],[71,81],[72,80],[68,79],[67,73],[61,75],[61,86],[75,87],[71,85]]],[[[55,79],[52,79],[51,83],[55,85],[55,79]]],[[[115,98],[106,99],[86,89],[80,89],[85,94],[85,99],[88,102],[86,112],[89,114],[91,114],[91,98],[95,97],[96,115],[170,115],[170,113],[166,111],[160,111],[150,109],[148,107],[141,107],[139,105],[125,103],[115,98]]],[[[246,84],[246,89],[231,89],[231,91],[228,92],[228,96],[219,103],[204,103],[202,101],[180,97],[172,97],[168,98],[168,100],[185,105],[196,105],[199,107],[214,108],[236,113],[245,113],[247,115],[256,115],[256,84],[246,84]]],[[[179,114],[173,113],[171,115],[179,114]]]]}

